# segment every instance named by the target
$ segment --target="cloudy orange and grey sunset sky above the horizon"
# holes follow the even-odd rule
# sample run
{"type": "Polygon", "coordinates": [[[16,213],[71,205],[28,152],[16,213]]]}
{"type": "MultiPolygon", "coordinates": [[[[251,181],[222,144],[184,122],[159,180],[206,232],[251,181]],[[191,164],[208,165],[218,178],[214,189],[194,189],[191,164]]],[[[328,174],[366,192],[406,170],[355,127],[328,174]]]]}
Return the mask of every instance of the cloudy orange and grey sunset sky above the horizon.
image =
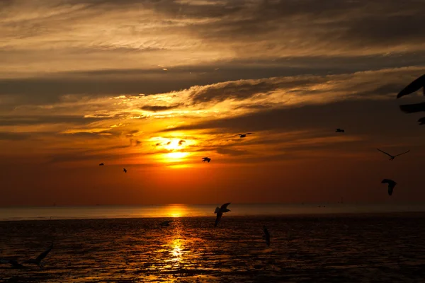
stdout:
{"type": "Polygon", "coordinates": [[[2,0],[0,206],[425,201],[424,6],[2,0]]]}

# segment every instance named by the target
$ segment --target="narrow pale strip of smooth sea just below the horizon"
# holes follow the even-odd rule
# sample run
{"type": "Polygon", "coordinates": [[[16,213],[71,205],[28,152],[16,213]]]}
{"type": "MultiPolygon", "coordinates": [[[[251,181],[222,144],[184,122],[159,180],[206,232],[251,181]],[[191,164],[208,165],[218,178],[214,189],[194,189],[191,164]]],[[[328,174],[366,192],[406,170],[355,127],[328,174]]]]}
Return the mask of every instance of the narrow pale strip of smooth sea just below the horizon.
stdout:
{"type": "MultiPolygon", "coordinates": [[[[113,219],[181,216],[214,216],[221,204],[164,204],[94,207],[0,207],[0,221],[43,219],[113,219]]],[[[378,212],[425,212],[425,204],[238,204],[229,216],[289,214],[344,214],[378,212]]]]}

